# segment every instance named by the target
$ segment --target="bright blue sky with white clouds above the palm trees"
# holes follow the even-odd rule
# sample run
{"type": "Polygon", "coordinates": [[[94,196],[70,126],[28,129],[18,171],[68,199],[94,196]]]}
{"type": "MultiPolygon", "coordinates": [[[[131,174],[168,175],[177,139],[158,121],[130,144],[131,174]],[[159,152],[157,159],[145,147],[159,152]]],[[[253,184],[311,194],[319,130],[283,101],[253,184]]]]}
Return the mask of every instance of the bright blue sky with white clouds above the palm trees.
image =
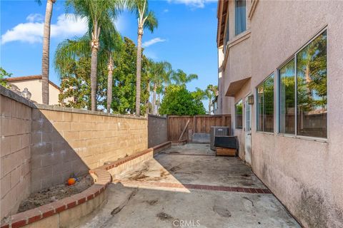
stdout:
{"type": "MultiPolygon", "coordinates": [[[[1,56],[0,66],[16,76],[41,73],[41,34],[46,1],[0,1],[1,56]]],[[[199,80],[189,83],[189,90],[217,85],[217,1],[166,0],[149,1],[159,27],[144,31],[144,54],[154,61],[169,61],[174,69],[197,73],[199,80]],[[155,41],[155,42],[154,42],[155,41]],[[157,41],[157,42],[156,42],[157,41]],[[151,44],[152,43],[152,44],[151,44]]],[[[56,46],[65,38],[81,36],[83,22],[67,19],[64,2],[57,0],[51,19],[50,61],[56,46]]],[[[122,36],[136,42],[136,18],[124,11],[116,21],[122,36]]],[[[50,80],[59,85],[59,75],[50,66],[50,80]]],[[[205,106],[207,107],[207,106],[205,106]]]]}

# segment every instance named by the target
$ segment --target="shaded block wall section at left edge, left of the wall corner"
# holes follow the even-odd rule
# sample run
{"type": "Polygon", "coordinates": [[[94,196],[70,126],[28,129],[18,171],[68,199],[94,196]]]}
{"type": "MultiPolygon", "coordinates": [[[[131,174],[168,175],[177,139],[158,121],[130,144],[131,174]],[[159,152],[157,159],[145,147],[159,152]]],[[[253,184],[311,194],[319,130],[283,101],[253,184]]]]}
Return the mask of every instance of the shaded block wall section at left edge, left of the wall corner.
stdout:
{"type": "Polygon", "coordinates": [[[16,213],[21,200],[31,192],[31,107],[4,95],[0,105],[2,218],[16,213]]]}

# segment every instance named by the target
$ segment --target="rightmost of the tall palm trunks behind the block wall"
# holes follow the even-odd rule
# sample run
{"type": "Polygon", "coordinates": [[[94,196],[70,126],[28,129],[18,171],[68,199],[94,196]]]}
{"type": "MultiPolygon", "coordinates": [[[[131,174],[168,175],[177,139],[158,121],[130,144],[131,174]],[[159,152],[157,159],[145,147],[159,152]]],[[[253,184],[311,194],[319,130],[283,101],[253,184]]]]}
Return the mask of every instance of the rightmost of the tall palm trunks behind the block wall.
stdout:
{"type": "Polygon", "coordinates": [[[137,68],[136,68],[136,116],[141,115],[141,37],[143,26],[139,25],[137,40],[137,68]]]}

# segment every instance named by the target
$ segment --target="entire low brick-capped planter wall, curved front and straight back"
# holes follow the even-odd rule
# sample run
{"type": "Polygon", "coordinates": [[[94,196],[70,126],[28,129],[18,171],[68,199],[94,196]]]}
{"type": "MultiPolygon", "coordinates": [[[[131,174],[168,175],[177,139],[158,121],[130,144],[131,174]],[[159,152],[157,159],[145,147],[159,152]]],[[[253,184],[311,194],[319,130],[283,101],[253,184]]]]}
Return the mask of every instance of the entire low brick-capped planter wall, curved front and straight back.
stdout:
{"type": "Polygon", "coordinates": [[[172,145],[164,142],[156,147],[143,150],[134,155],[102,165],[89,173],[94,178],[94,185],[84,192],[61,199],[41,207],[11,216],[9,224],[1,224],[1,228],[14,227],[77,227],[91,212],[99,209],[107,199],[107,187],[111,183],[111,175],[132,169],[141,162],[151,159],[157,152],[172,145]]]}

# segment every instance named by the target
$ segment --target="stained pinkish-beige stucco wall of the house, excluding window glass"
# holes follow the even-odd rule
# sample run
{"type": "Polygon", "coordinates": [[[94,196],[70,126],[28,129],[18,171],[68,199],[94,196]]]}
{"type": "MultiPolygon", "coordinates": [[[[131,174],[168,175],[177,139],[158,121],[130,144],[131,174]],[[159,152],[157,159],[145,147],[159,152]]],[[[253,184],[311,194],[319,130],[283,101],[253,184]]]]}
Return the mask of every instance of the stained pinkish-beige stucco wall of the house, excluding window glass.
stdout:
{"type": "MultiPolygon", "coordinates": [[[[223,72],[225,88],[244,75],[252,77],[234,95],[234,103],[249,92],[255,98],[252,170],[304,227],[343,227],[343,28],[338,23],[343,21],[342,11],[340,1],[258,1],[252,18],[247,19],[251,32],[249,42],[229,48],[223,72]],[[328,137],[315,140],[280,135],[277,132],[277,68],[325,26],[328,137]],[[274,73],[274,133],[261,133],[257,132],[256,87],[271,73],[274,73]]],[[[229,13],[232,14],[232,9],[229,13]]],[[[235,37],[230,39],[229,43],[235,37]]],[[[234,123],[234,108],[231,114],[234,123]]],[[[244,125],[243,110],[243,129],[234,129],[242,159],[244,125]]]]}

